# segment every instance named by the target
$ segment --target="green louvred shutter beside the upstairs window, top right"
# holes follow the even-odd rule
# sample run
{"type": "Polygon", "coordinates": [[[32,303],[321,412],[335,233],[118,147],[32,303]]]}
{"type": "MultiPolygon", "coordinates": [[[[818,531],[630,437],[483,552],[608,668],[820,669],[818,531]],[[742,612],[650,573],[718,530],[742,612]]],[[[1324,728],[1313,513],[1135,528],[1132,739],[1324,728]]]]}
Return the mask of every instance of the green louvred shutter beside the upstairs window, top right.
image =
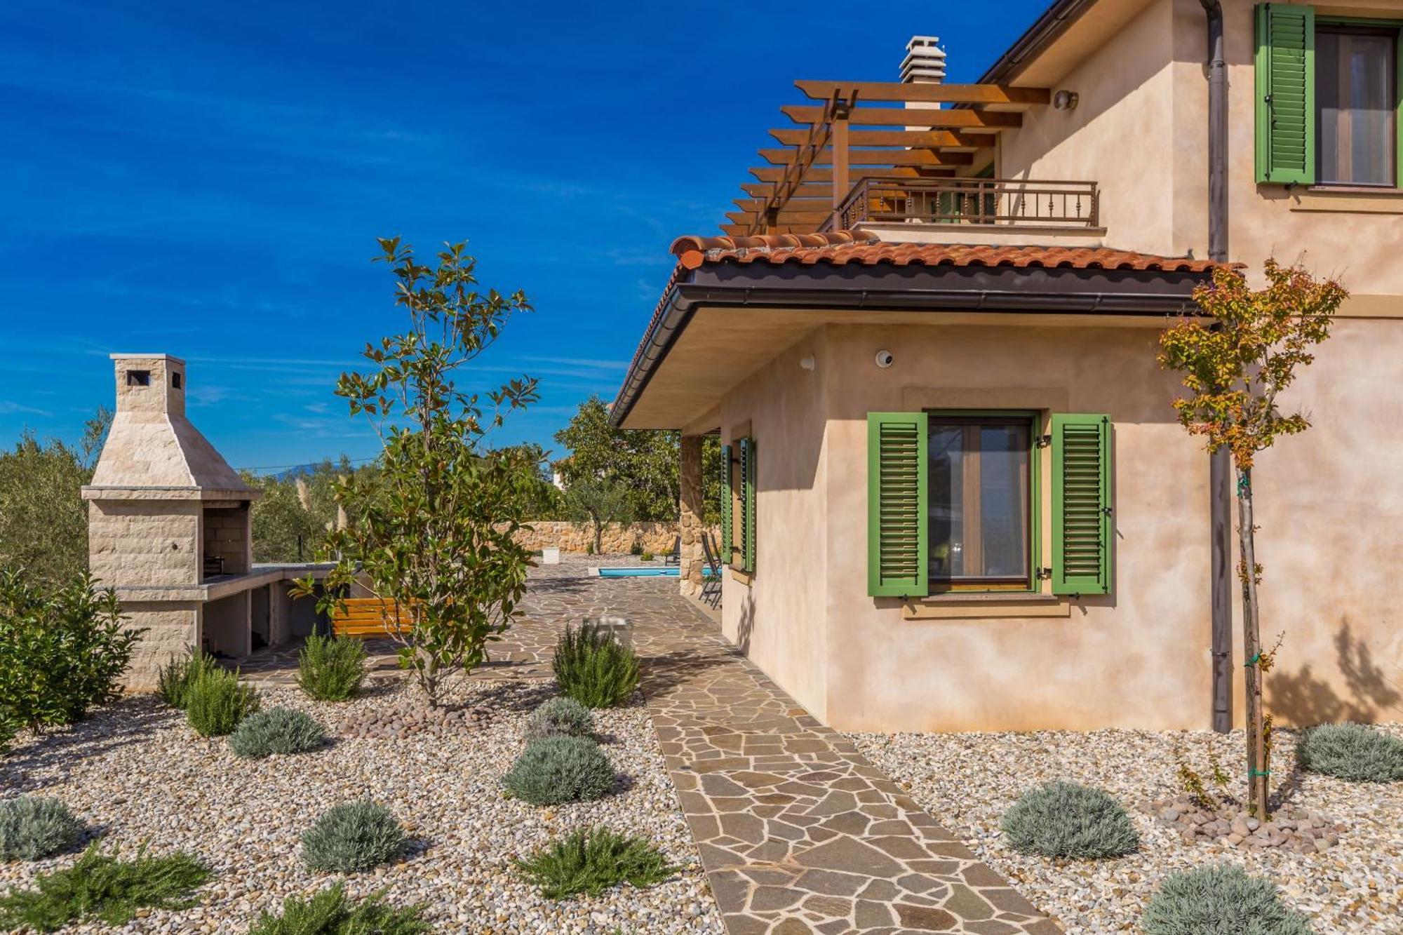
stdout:
{"type": "Polygon", "coordinates": [[[1257,6],[1257,181],[1315,184],[1315,7],[1257,6]]]}

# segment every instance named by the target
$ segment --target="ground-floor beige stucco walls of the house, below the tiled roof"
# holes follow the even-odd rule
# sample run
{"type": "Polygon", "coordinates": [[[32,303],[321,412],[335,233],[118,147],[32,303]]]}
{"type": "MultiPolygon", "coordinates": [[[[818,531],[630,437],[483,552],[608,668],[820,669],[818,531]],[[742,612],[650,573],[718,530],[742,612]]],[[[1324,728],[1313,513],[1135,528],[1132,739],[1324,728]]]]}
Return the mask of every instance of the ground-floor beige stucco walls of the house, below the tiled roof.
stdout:
{"type": "MultiPolygon", "coordinates": [[[[1156,336],[829,326],[780,355],[723,402],[723,432],[748,420],[759,448],[758,570],[725,584],[727,636],[846,730],[1207,727],[1208,459],[1173,418],[1156,336]],[[922,605],[978,614],[955,619],[867,597],[867,413],[941,406],[1111,416],[1113,595],[1055,616],[922,605]]],[[[1403,713],[1403,494],[1388,483],[1403,424],[1376,390],[1400,380],[1403,323],[1343,321],[1295,393],[1317,425],[1263,458],[1263,630],[1287,633],[1268,701],[1285,723],[1403,713]]]]}

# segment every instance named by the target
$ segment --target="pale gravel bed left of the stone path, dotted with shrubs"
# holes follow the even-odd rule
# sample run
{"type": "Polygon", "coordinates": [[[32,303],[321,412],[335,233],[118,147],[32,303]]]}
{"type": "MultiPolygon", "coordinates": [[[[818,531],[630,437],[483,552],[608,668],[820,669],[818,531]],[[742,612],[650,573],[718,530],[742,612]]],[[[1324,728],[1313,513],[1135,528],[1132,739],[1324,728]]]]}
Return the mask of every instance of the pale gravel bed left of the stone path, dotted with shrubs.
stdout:
{"type": "MultiPolygon", "coordinates": [[[[261,694],[264,708],[300,708],[337,734],[358,709],[405,703],[407,691],[404,682],[384,682],[345,705],[288,688],[261,694]]],[[[596,712],[605,750],[629,776],[620,792],[556,809],[502,796],[498,778],[521,750],[526,713],[550,691],[549,682],[469,684],[463,701],[492,712],[480,729],[449,738],[341,738],[318,752],[254,761],[234,757],[223,740],[195,736],[153,698],[129,698],[0,760],[0,795],[58,796],[123,851],[142,841],[152,852],[184,848],[215,870],[198,907],[76,932],[241,932],[258,910],[334,882],[302,868],[299,837],[324,809],[362,796],[387,804],[414,845],[403,862],[349,877],[348,890],[384,889],[396,904],[427,903],[435,931],[723,932],[641,696],[630,708],[596,712]],[[645,835],[683,869],[652,889],[623,886],[571,901],[544,900],[516,879],[512,858],[584,824],[645,835]]],[[[0,889],[73,859],[0,863],[0,889]]]]}

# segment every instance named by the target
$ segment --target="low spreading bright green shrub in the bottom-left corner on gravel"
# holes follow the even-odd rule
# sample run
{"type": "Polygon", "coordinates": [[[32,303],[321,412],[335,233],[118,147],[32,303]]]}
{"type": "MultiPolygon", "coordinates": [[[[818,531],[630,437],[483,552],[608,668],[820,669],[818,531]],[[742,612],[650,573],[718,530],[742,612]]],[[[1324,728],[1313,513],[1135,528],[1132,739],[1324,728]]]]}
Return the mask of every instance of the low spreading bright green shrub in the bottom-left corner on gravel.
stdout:
{"type": "Polygon", "coordinates": [[[209,869],[184,851],[170,856],[118,859],[94,841],[73,866],[39,873],[32,890],[0,896],[0,929],[52,932],[77,921],[125,925],[136,911],[192,906],[191,890],[209,879],[209,869]]]}

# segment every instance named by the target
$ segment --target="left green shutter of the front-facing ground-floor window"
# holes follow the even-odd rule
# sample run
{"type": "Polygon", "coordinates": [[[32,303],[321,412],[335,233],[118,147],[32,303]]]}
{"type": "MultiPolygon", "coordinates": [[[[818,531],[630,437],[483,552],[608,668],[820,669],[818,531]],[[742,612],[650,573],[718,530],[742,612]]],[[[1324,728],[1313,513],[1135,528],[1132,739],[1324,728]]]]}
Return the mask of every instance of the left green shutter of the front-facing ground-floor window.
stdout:
{"type": "Polygon", "coordinates": [[[929,591],[926,414],[867,413],[867,594],[929,591]]]}

